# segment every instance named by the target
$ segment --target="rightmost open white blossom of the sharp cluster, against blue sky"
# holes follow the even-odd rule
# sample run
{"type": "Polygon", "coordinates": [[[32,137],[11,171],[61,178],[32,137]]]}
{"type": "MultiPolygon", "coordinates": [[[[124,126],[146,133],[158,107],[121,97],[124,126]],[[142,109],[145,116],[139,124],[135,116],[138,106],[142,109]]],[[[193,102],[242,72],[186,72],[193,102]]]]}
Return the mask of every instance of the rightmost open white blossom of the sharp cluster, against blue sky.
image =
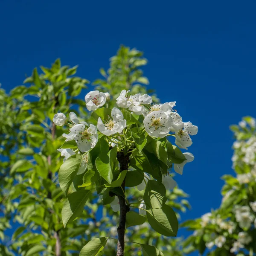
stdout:
{"type": "Polygon", "coordinates": [[[195,135],[198,133],[198,127],[192,125],[191,122],[183,122],[183,128],[175,132],[175,143],[180,148],[185,148],[192,145],[192,140],[189,135],[195,135]]]}

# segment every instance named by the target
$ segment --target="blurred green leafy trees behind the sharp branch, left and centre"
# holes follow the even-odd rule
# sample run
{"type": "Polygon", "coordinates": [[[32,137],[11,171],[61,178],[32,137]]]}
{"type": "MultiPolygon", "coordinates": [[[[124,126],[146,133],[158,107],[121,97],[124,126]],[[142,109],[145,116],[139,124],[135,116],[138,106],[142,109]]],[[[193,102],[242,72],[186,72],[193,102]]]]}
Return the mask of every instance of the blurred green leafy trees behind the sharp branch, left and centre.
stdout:
{"type": "MultiPolygon", "coordinates": [[[[143,53],[120,47],[111,58],[108,71],[100,69],[103,79],[93,82],[96,89],[109,92],[113,107],[121,90],[131,93],[154,93],[147,90],[148,79],[140,69],[147,64],[143,53]]],[[[57,150],[63,144],[64,130],[52,123],[55,113],[73,111],[90,120],[84,99],[89,81],[76,77],[76,67],[61,66],[57,59],[52,67],[35,68],[24,84],[6,94],[0,90],[0,255],[69,256],[79,255],[93,238],[115,238],[118,214],[110,205],[102,207],[92,194],[81,218],[64,228],[61,209],[65,196],[58,185],[58,170],[63,163],[57,150]],[[108,212],[107,212],[108,210],[108,212]],[[16,229],[12,228],[17,227],[16,229]],[[115,227],[115,228],[113,228],[115,227]],[[11,235],[9,235],[11,234],[11,235]]],[[[158,102],[153,94],[153,100],[158,102]]],[[[73,189],[78,189],[76,181],[73,189]]],[[[130,198],[143,198],[143,192],[129,189],[130,198]]],[[[175,188],[166,194],[175,212],[189,208],[188,195],[175,188]]],[[[178,216],[179,217],[179,216],[178,216]]],[[[166,256],[183,255],[179,239],[156,233],[148,224],[129,227],[127,241],[158,247],[166,256]]],[[[142,255],[136,244],[126,244],[129,255],[142,255]]],[[[116,242],[108,240],[99,255],[111,256],[116,242]]]]}

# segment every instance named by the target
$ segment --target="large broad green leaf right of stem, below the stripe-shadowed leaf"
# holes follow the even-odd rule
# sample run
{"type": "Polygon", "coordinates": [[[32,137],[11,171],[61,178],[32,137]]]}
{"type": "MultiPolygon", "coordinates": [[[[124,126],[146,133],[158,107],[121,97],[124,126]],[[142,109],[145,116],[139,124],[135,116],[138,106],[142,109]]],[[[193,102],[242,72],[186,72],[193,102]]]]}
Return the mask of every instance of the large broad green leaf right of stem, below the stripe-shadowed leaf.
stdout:
{"type": "Polygon", "coordinates": [[[163,236],[176,236],[178,231],[178,220],[174,210],[164,204],[160,209],[149,209],[147,211],[148,223],[163,236]]]}

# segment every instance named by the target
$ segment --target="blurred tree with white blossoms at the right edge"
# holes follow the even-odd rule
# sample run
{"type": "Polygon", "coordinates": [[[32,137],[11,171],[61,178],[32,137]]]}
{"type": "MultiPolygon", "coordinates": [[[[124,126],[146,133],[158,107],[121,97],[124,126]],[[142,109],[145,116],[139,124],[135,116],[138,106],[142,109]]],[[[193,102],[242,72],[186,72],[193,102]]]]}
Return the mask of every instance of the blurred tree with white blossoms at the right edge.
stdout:
{"type": "Polygon", "coordinates": [[[221,206],[183,226],[194,230],[184,253],[198,250],[210,256],[253,256],[256,253],[256,120],[232,125],[233,175],[224,175],[221,206]]]}

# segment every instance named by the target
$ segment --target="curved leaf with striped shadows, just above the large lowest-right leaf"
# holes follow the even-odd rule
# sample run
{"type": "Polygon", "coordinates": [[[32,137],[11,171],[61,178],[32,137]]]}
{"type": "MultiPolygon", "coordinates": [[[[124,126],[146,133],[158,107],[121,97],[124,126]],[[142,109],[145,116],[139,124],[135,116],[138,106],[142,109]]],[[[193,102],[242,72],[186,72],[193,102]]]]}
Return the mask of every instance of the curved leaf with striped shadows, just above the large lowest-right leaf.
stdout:
{"type": "Polygon", "coordinates": [[[165,186],[156,180],[148,180],[143,199],[151,209],[162,208],[167,200],[165,186]]]}

